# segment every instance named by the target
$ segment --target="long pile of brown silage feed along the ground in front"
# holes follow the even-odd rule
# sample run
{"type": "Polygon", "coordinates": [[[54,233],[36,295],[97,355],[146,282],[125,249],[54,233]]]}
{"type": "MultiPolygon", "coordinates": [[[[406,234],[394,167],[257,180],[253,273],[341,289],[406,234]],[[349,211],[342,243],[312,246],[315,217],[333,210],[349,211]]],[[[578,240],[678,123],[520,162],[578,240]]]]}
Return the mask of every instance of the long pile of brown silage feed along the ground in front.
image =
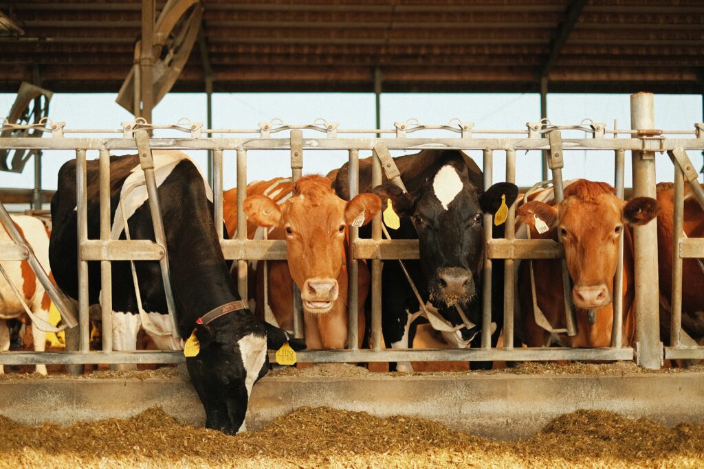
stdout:
{"type": "Polygon", "coordinates": [[[0,435],[0,466],[11,468],[704,467],[704,425],[667,428],[605,411],[567,414],[520,442],[325,407],[302,407],[235,437],[180,425],[161,409],[68,427],[0,416],[0,435]]]}

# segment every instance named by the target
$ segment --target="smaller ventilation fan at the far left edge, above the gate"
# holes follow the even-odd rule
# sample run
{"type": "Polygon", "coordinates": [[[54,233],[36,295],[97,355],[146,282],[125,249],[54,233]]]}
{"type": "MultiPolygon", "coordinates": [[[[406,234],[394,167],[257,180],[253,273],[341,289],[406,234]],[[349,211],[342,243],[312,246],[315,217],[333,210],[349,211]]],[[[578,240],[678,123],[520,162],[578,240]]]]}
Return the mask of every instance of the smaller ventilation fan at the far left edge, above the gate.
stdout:
{"type": "MultiPolygon", "coordinates": [[[[38,124],[49,114],[49,101],[54,93],[23,82],[17,93],[7,124],[38,124]]],[[[4,129],[0,134],[5,137],[41,137],[44,132],[37,129],[4,129]]],[[[27,160],[33,155],[41,155],[42,150],[0,150],[0,170],[22,172],[27,160]]]]}

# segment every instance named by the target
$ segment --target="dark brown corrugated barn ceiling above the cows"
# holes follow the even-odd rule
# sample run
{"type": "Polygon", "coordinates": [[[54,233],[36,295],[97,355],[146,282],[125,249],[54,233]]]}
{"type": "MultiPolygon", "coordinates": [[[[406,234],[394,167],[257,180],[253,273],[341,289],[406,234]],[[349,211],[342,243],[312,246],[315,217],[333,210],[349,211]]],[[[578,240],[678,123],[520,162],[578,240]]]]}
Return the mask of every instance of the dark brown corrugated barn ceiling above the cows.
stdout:
{"type": "MultiPolygon", "coordinates": [[[[164,5],[158,1],[157,8],[164,5]]],[[[704,92],[702,0],[203,0],[172,91],[704,92]]],[[[0,1],[0,91],[117,92],[141,1],[0,1]]]]}

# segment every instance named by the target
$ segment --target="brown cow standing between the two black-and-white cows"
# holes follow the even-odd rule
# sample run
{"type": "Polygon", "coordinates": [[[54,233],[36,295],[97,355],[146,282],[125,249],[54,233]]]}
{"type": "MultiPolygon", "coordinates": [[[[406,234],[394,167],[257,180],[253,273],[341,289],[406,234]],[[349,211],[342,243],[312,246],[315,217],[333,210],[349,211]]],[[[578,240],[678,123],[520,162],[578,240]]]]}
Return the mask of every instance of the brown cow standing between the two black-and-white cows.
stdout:
{"type": "MultiPolygon", "coordinates": [[[[381,208],[379,197],[369,193],[357,195],[350,202],[342,200],[335,195],[330,182],[322,176],[305,176],[294,184],[273,179],[247,186],[249,196],[244,202],[249,217],[248,238],[254,238],[256,229],[262,226],[271,228],[270,239],[286,240],[288,261],[268,263],[272,293],[269,302],[279,326],[292,330],[293,278],[301,290],[309,349],[346,346],[348,224],[362,214],[366,224],[381,208]]],[[[236,199],[235,189],[225,193],[225,224],[230,233],[237,229],[236,199]]],[[[258,273],[258,285],[262,281],[263,273],[258,273]]],[[[369,272],[360,262],[359,346],[364,337],[364,303],[369,284],[369,272]]],[[[263,293],[261,288],[257,290],[256,310],[263,315],[263,293]]]]}

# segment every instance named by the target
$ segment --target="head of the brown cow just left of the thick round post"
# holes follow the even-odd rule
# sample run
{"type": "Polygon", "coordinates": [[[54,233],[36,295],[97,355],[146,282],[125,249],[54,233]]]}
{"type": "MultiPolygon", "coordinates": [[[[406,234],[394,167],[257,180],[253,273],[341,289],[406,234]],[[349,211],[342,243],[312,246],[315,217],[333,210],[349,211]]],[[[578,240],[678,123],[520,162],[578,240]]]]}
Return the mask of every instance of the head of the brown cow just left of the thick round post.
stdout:
{"type": "MultiPolygon", "coordinates": [[[[551,206],[531,201],[519,207],[517,214],[529,226],[535,226],[537,216],[558,231],[574,283],[572,302],[581,309],[594,309],[612,301],[623,224],[648,223],[658,215],[658,201],[636,197],[625,202],[608,184],[579,179],[565,188],[561,203],[551,206]]],[[[555,237],[555,231],[545,236],[555,237]]]]}

